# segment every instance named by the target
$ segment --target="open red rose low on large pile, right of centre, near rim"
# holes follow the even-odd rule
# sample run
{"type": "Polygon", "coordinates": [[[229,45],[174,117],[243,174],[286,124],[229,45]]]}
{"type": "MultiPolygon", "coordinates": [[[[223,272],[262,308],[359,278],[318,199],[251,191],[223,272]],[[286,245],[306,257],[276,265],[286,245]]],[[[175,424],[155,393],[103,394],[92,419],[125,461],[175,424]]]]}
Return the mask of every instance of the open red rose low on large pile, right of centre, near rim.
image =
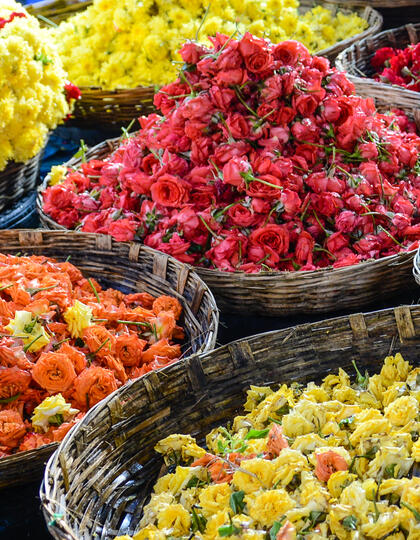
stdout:
{"type": "Polygon", "coordinates": [[[265,259],[265,264],[274,266],[289,250],[289,231],[284,225],[260,227],[251,233],[249,240],[249,259],[252,262],[265,259]]]}

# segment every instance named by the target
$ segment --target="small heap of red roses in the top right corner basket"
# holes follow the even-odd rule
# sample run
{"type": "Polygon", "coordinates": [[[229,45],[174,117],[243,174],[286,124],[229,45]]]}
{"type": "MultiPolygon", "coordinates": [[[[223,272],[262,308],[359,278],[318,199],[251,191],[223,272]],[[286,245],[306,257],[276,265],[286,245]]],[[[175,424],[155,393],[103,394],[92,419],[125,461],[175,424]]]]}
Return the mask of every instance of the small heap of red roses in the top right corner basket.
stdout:
{"type": "Polygon", "coordinates": [[[420,43],[405,49],[382,47],[371,60],[375,80],[420,92],[420,43]]]}

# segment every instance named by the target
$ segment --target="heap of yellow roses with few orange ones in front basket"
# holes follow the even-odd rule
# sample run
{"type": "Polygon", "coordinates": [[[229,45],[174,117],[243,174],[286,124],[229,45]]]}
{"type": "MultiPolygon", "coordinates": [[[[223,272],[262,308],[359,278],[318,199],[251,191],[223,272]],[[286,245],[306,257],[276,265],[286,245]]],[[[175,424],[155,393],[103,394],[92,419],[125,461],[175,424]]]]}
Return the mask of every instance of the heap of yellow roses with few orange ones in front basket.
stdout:
{"type": "Polygon", "coordinates": [[[354,382],[340,369],[321,385],[252,386],[247,414],[213,430],[207,453],[190,436],[160,441],[178,465],[140,530],[118,540],[418,540],[420,369],[396,354],[378,375],[356,371],[354,382]]]}

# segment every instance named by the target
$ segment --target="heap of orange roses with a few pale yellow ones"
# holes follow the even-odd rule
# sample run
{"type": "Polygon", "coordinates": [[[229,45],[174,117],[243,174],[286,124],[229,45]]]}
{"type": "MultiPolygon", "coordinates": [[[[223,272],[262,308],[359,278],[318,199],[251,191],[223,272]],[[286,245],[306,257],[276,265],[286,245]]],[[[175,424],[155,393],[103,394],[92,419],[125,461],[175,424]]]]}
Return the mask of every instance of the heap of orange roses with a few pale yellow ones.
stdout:
{"type": "Polygon", "coordinates": [[[179,359],[181,314],[173,297],[102,290],[69,262],[0,254],[0,458],[60,441],[129,379],[179,359]],[[71,414],[45,416],[58,394],[71,414]]]}

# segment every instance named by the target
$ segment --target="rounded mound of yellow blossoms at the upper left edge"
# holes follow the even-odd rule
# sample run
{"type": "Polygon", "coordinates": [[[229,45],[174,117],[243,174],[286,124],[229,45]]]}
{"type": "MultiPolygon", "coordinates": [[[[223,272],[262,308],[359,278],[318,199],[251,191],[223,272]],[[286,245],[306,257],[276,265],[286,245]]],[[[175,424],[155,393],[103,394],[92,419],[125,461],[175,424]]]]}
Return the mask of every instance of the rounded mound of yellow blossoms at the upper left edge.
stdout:
{"type": "Polygon", "coordinates": [[[49,32],[14,0],[0,0],[0,21],[2,171],[9,160],[19,163],[34,157],[49,130],[70,111],[66,73],[49,32]]]}

